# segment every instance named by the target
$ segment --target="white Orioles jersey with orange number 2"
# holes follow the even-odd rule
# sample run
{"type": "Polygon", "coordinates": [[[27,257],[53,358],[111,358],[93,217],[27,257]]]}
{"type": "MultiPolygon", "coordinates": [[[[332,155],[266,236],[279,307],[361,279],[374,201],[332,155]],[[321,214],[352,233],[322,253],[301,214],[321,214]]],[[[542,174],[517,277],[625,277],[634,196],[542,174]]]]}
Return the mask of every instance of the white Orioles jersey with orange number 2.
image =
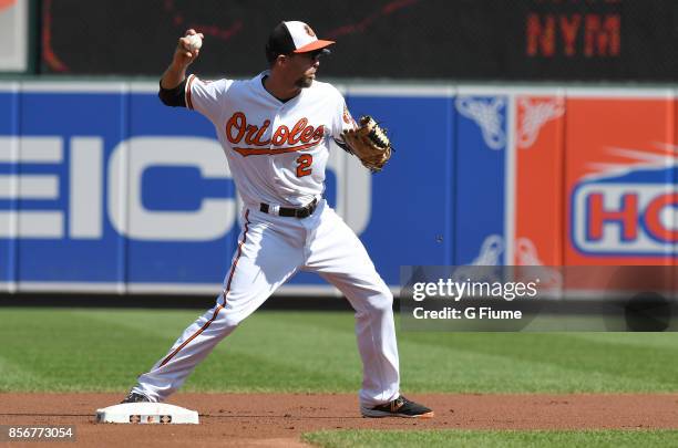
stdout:
{"type": "Polygon", "coordinates": [[[314,81],[282,103],[251,80],[186,82],[186,105],[216,127],[230,171],[245,204],[300,207],[325,189],[331,138],[355,125],[343,96],[331,84],[314,81]]]}

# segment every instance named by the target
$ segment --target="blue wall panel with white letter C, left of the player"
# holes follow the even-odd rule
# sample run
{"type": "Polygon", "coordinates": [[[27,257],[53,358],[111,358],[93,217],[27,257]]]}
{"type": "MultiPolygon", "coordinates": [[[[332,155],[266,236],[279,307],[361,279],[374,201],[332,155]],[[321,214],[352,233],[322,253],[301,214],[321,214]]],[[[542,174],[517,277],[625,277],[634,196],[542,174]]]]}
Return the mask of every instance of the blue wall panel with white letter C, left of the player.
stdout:
{"type": "Polygon", "coordinates": [[[135,92],[129,126],[127,282],[218,284],[240,228],[213,124],[135,92]]]}

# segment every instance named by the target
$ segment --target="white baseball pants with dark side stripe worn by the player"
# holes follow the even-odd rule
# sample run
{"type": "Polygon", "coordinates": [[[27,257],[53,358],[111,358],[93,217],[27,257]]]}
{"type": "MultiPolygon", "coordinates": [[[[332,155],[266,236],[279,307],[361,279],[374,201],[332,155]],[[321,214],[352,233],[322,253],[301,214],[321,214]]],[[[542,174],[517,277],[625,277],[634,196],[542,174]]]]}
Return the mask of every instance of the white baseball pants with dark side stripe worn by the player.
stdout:
{"type": "Polygon", "coordinates": [[[400,375],[393,296],[358,237],[325,199],[305,219],[245,209],[238,248],[216,305],[184,331],[132,390],[153,402],[166,399],[219,341],[297,270],[320,274],[356,310],[363,369],[360,405],[371,407],[396,399],[400,375]]]}

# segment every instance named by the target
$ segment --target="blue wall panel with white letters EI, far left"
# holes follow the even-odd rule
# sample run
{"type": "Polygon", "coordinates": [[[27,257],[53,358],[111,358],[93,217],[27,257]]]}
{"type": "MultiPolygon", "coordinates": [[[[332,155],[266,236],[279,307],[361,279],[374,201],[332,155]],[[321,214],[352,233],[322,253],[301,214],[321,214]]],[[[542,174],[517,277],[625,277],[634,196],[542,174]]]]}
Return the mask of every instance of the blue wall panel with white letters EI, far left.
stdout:
{"type": "Polygon", "coordinates": [[[125,139],[126,95],[21,94],[18,280],[122,283],[125,244],[107,216],[106,155],[125,139]]]}

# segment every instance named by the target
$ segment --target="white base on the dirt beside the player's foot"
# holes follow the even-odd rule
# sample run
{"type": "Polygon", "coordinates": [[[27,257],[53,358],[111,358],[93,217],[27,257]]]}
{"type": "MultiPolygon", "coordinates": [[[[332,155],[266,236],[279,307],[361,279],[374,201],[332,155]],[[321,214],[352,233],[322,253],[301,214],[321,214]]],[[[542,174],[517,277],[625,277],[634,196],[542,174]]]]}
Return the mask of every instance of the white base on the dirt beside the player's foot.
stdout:
{"type": "Polygon", "coordinates": [[[198,415],[165,403],[123,403],[96,409],[96,423],[197,425],[198,415]]]}

